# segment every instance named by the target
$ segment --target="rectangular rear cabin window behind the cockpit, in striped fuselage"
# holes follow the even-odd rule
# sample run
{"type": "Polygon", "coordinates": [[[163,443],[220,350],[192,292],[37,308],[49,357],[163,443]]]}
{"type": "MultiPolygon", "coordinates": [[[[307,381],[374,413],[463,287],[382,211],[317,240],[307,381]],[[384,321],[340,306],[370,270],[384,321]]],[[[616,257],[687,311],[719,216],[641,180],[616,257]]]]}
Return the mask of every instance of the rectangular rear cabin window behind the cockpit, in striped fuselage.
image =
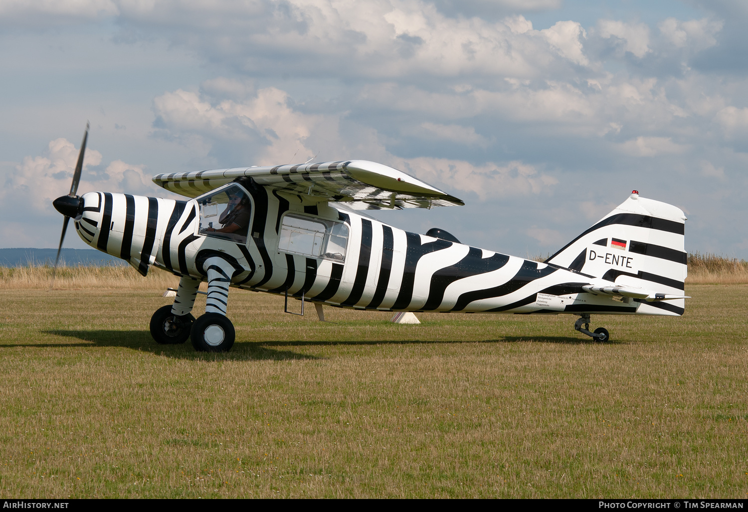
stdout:
{"type": "Polygon", "coordinates": [[[293,214],[283,217],[278,251],[343,261],[347,245],[345,224],[293,214]]]}

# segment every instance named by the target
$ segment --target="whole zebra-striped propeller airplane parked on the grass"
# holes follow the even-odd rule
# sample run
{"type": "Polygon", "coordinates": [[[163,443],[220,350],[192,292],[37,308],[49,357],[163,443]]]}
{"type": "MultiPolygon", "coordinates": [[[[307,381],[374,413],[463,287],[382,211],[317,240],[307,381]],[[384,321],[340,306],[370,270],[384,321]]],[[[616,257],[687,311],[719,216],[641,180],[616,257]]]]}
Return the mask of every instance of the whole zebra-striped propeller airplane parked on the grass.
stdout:
{"type": "MultiPolygon", "coordinates": [[[[76,195],[86,127],[64,215],[59,251],[73,219],[79,237],[147,275],[180,277],[172,305],[156,310],[159,344],[225,352],[236,338],[226,316],[229,288],[275,293],[370,311],[573,314],[595,341],[592,314],[684,313],[686,216],[678,207],[631,195],[544,262],[468,246],[443,229],[411,233],[367,210],[464,203],[402,171],[365,160],[306,162],[158,174],[178,201],[114,192],[76,195]],[[205,314],[194,300],[207,281],[205,314]]],[[[55,268],[57,261],[55,261],[55,268]]],[[[203,293],[203,292],[200,292],[203,293]]]]}

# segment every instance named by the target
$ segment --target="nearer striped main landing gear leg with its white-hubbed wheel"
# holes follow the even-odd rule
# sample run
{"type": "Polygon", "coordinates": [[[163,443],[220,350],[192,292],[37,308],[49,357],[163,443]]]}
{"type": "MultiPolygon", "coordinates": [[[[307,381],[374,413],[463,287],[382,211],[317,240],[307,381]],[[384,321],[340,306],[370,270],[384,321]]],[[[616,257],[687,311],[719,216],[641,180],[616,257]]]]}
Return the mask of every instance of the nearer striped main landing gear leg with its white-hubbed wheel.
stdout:
{"type": "Polygon", "coordinates": [[[192,324],[192,346],[198,352],[228,352],[236,338],[233,324],[226,317],[234,268],[218,256],[209,257],[203,266],[208,277],[208,298],[205,314],[192,324]]]}

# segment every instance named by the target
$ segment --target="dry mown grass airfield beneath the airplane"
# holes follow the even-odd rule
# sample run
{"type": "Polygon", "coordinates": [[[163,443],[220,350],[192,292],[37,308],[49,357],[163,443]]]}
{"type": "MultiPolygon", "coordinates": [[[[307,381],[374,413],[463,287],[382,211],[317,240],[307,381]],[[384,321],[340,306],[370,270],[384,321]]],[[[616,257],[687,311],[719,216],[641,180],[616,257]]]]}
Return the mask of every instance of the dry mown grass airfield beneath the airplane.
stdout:
{"type": "Polygon", "coordinates": [[[607,344],[233,290],[227,354],[150,338],[163,289],[3,290],[2,498],[748,497],[747,285],[607,344]]]}

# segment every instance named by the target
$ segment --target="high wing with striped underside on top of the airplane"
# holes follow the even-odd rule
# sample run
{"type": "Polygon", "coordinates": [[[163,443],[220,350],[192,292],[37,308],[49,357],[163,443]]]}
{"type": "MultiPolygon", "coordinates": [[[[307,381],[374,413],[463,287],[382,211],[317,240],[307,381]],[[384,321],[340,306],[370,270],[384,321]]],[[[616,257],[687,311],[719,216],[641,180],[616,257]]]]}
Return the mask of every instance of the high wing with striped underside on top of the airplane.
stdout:
{"type": "Polygon", "coordinates": [[[409,174],[367,160],[158,174],[153,182],[194,198],[240,177],[250,177],[260,185],[298,195],[304,202],[337,201],[353,210],[465,204],[409,174]]]}

